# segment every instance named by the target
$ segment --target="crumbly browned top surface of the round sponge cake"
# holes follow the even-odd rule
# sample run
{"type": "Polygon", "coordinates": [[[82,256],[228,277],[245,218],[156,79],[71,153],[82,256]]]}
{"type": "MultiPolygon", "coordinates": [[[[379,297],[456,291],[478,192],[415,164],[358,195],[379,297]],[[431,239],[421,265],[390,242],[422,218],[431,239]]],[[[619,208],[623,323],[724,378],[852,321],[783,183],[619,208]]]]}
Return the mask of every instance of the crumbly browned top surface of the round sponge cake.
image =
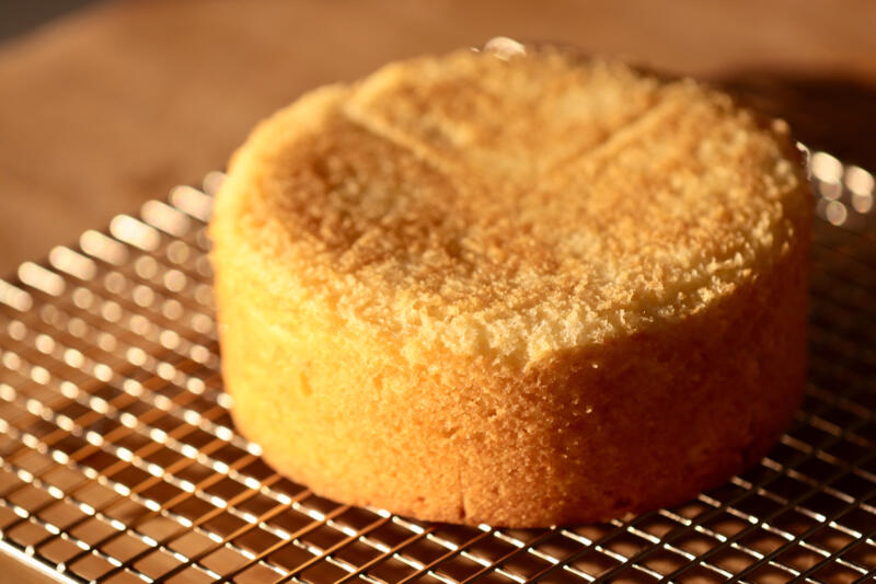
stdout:
{"type": "Polygon", "coordinates": [[[290,295],[526,366],[702,310],[772,265],[809,207],[791,145],[691,80],[457,51],[262,123],[216,214],[290,295]]]}

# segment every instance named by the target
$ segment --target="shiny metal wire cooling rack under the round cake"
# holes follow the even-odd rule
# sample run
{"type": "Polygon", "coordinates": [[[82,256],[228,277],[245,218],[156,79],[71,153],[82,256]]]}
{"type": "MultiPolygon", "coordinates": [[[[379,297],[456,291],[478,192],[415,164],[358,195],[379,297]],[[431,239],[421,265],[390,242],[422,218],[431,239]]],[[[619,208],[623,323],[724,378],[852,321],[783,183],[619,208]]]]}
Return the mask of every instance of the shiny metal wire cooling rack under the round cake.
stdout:
{"type": "Polygon", "coordinates": [[[810,376],[760,463],[672,507],[497,529],[278,476],[222,393],[205,221],[175,188],[0,280],[0,550],[62,582],[863,582],[876,574],[874,178],[810,157],[810,376]]]}

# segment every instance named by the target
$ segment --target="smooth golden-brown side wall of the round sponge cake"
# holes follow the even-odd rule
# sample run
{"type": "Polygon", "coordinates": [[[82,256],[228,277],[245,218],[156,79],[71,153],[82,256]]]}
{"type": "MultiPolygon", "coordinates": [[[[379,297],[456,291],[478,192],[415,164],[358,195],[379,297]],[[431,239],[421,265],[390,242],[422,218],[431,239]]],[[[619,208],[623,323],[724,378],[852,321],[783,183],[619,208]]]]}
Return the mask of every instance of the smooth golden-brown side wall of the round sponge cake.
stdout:
{"type": "Polygon", "coordinates": [[[344,502],[470,524],[621,516],[752,463],[802,396],[803,243],[704,311],[509,371],[442,350],[406,359],[397,339],[291,302],[231,230],[215,238],[239,430],[344,502]]]}

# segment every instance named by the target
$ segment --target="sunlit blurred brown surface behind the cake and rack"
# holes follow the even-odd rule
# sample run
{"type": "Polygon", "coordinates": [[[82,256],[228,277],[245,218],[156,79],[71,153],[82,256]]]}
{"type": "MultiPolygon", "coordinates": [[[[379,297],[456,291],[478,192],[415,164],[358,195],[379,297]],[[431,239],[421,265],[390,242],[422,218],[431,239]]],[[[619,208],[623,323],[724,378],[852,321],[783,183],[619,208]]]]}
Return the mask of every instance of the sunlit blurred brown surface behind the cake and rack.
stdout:
{"type": "MultiPolygon", "coordinates": [[[[866,0],[106,2],[0,46],[0,273],[196,183],[273,110],[389,59],[503,34],[698,76],[753,71],[772,90],[876,80],[874,23],[866,0]]],[[[872,98],[855,103],[872,112],[872,98]]],[[[848,116],[828,110],[822,133],[848,116]]]]}

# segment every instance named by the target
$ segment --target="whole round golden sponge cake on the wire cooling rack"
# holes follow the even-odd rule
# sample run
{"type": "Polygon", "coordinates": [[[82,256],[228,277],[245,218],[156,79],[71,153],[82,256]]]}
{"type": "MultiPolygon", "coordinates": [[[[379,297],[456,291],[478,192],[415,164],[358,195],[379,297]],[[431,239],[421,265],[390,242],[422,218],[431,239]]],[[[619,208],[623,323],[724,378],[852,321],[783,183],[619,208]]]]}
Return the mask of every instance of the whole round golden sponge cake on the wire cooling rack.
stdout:
{"type": "Polygon", "coordinates": [[[319,89],[210,234],[240,431],[316,493],[546,526],[758,460],[805,377],[810,199],[784,124],[550,48],[319,89]]]}

